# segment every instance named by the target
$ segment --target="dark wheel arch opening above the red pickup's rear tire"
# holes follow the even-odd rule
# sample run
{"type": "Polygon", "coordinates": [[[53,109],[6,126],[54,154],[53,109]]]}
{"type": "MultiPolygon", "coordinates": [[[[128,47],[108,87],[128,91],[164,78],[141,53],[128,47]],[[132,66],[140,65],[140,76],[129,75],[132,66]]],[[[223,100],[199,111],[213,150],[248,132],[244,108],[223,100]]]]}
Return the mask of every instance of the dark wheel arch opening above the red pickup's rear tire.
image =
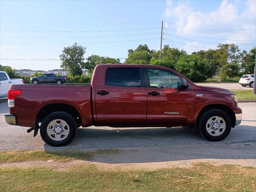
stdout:
{"type": "Polygon", "coordinates": [[[74,117],[78,126],[81,126],[82,119],[81,119],[81,115],[78,112],[78,110],[74,106],[71,106],[69,104],[64,104],[64,103],[54,103],[54,104],[47,104],[47,105],[43,106],[38,111],[36,118],[37,118],[38,122],[42,122],[42,120],[48,114],[51,114],[51,113],[57,112],[57,111],[67,112],[68,114],[70,114],[71,116],[74,117]]]}

